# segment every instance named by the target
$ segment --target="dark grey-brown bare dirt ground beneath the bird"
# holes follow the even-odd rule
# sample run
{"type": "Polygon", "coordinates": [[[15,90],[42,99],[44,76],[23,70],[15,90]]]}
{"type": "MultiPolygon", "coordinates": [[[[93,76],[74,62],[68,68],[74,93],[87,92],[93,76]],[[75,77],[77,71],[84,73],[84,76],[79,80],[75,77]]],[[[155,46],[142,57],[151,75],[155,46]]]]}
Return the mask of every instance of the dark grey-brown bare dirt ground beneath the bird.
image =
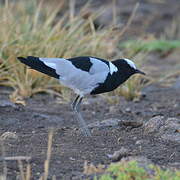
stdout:
{"type": "MultiPolygon", "coordinates": [[[[179,53],[174,54],[166,58],[160,58],[157,54],[149,56],[148,66],[151,72],[148,73],[157,77],[165,70],[174,68],[179,62],[179,53]]],[[[121,147],[127,148],[133,155],[144,156],[155,164],[180,168],[180,142],[148,134],[144,126],[93,127],[92,137],[84,137],[68,103],[60,104],[52,95],[38,94],[28,99],[26,106],[15,105],[9,100],[11,90],[1,87],[0,91],[0,135],[6,132],[14,134],[5,137],[5,155],[30,156],[34,179],[43,172],[50,128],[54,129],[50,177],[56,175],[57,179],[80,179],[83,177],[85,161],[95,165],[108,165],[111,163],[108,154],[113,154],[121,147]]],[[[103,96],[90,96],[83,101],[82,115],[88,124],[107,119],[145,124],[158,115],[165,119],[180,118],[178,77],[171,86],[154,83],[143,92],[145,96],[136,102],[114,97],[119,101],[118,104],[108,103],[103,96]]],[[[0,168],[2,172],[2,163],[0,168]]],[[[17,162],[7,161],[7,168],[9,179],[15,179],[19,172],[17,162]]]]}

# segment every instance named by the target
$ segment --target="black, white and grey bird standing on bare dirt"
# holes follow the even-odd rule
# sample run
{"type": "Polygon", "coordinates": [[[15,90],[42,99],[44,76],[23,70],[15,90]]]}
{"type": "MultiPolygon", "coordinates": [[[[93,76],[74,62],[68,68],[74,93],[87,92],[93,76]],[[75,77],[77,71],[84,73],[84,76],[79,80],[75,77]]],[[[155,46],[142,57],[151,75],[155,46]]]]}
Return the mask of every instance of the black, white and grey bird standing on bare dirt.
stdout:
{"type": "Polygon", "coordinates": [[[58,79],[62,85],[77,94],[71,106],[85,136],[91,136],[91,132],[80,113],[83,98],[86,95],[113,91],[134,74],[145,75],[143,71],[137,69],[132,60],[127,58],[108,61],[93,56],[73,58],[27,56],[17,59],[31,69],[58,79]]]}

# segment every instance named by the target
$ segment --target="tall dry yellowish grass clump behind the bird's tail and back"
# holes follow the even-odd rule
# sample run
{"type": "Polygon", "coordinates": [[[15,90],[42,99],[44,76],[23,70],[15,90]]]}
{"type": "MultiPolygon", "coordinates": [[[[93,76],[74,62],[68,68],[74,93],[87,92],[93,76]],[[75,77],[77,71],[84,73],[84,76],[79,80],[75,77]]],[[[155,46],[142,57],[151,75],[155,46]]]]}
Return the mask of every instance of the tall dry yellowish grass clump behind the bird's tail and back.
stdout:
{"type": "MultiPolygon", "coordinates": [[[[116,54],[116,57],[121,55],[116,44],[130,25],[138,4],[125,29],[114,32],[112,27],[95,30],[93,20],[102,10],[95,15],[91,14],[87,19],[82,18],[81,12],[74,15],[70,11],[69,17],[69,13],[63,12],[64,2],[61,1],[58,7],[51,7],[46,6],[43,1],[6,1],[0,7],[0,26],[3,27],[0,28],[0,85],[14,89],[10,99],[15,103],[25,105],[25,97],[40,92],[53,93],[62,98],[64,94],[70,94],[57,80],[20,64],[17,56],[70,58],[91,55],[109,59],[113,58],[112,54],[116,54]],[[64,15],[58,17],[60,13],[64,15]]],[[[73,9],[73,5],[71,8],[73,9]]],[[[123,91],[122,89],[121,92],[123,91]]]]}

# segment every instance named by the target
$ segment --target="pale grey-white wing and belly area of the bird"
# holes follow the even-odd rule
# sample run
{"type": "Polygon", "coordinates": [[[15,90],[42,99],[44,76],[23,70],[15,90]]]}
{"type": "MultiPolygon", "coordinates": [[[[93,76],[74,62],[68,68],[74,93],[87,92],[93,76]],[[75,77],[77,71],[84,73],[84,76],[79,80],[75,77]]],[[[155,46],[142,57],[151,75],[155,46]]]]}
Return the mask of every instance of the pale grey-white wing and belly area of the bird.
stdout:
{"type": "Polygon", "coordinates": [[[90,72],[76,68],[72,62],[63,58],[39,58],[45,65],[56,70],[59,81],[73,89],[77,94],[89,94],[99,83],[103,83],[109,73],[109,67],[98,59],[92,59],[90,72]]]}

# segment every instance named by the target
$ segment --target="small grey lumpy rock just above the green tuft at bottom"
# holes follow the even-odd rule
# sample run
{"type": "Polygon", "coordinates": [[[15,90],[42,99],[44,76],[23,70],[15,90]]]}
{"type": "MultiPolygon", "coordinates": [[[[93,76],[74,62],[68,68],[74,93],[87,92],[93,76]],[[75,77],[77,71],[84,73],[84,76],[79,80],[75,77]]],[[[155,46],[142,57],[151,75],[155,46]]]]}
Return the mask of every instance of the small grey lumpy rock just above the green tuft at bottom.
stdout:
{"type": "Polygon", "coordinates": [[[107,154],[107,156],[113,161],[120,161],[123,157],[127,157],[132,155],[130,151],[124,147],[122,147],[119,151],[115,151],[114,154],[107,154]]]}

